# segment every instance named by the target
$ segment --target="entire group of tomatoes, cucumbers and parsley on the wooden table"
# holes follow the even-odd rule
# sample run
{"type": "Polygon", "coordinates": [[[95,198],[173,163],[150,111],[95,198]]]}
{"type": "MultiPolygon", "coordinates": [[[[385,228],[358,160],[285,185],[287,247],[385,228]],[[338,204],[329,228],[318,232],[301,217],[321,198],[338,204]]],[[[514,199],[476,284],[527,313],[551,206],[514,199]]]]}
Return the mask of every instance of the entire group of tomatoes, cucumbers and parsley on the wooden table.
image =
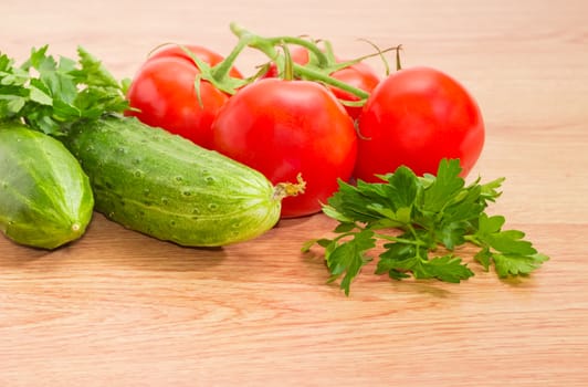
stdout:
{"type": "Polygon", "coordinates": [[[122,82],[83,48],[77,60],[33,49],[21,65],[0,55],[0,231],[56,249],[96,210],[160,240],[219,247],[323,212],[336,237],[303,251],[324,248],[346,294],[378,240],[376,273],[396,280],[470,278],[453,254],[464,243],[500,276],[548,259],[485,213],[502,179],[465,185],[485,133],[455,79],[402,69],[400,46],[342,60],[325,40],[231,31],[227,56],[165,45],[122,82]],[[234,65],[246,50],[267,57],[250,76],[234,65]],[[430,257],[438,247],[447,253],[430,257]]]}

